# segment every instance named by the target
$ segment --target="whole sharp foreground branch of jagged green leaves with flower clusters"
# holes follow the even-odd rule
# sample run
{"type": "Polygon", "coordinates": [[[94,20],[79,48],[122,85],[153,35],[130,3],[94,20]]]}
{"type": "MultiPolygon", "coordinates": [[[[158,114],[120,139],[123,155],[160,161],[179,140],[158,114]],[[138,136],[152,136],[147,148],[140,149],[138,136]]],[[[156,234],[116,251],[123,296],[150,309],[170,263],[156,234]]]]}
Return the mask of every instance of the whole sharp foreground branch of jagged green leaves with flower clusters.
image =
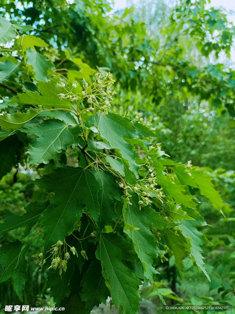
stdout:
{"type": "Polygon", "coordinates": [[[0,282],[11,278],[23,300],[25,258],[35,238],[44,246],[34,256],[49,269],[51,296],[68,312],[90,313],[110,296],[122,313],[136,313],[139,285],[152,282],[157,291],[154,266],[167,260],[165,252],[174,255],[180,275],[183,258],[190,257],[210,280],[201,255],[210,242],[197,230],[206,222],[195,195],[204,195],[224,214],[231,211],[213,178],[190,163],[164,158],[150,128],[110,112],[112,74],[91,76],[95,70],[69,51],[64,61],[81,70],[63,68],[66,73],[60,74],[58,65],[36,50],[46,46],[42,39],[19,34],[32,26],[0,22],[4,45],[17,37],[13,51],[1,50],[4,89],[15,90],[8,78],[15,88],[23,87],[12,99],[2,97],[1,174],[29,157],[39,174],[45,169],[33,182],[47,195],[44,202],[29,204],[23,216],[8,216],[1,224],[1,236],[16,228],[24,234],[1,247],[0,282]],[[76,167],[66,162],[71,154],[76,167]],[[25,242],[35,225],[37,235],[25,242]]]}

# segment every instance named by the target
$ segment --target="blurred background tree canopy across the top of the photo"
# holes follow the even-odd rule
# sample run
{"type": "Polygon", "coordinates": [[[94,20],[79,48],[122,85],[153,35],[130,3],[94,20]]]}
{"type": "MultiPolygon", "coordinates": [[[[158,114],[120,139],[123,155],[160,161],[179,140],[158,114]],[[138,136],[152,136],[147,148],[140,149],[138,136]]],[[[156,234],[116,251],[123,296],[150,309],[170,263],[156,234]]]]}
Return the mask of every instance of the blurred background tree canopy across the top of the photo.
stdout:
{"type": "Polygon", "coordinates": [[[109,68],[122,90],[139,91],[148,99],[147,110],[172,95],[182,102],[196,95],[218,113],[228,111],[235,116],[234,71],[209,61],[212,55],[216,59],[230,55],[234,26],[220,10],[206,9],[204,0],[179,1],[169,19],[150,34],[133,8],[111,15],[106,1],[68,5],[61,0],[47,6],[44,1],[32,3],[33,7],[26,5],[18,10],[13,2],[4,0],[2,12],[12,12],[12,21],[24,21],[27,27],[38,25],[31,34],[45,41],[39,47],[50,60],[60,63],[67,58],[66,46],[92,68],[109,68]]]}

